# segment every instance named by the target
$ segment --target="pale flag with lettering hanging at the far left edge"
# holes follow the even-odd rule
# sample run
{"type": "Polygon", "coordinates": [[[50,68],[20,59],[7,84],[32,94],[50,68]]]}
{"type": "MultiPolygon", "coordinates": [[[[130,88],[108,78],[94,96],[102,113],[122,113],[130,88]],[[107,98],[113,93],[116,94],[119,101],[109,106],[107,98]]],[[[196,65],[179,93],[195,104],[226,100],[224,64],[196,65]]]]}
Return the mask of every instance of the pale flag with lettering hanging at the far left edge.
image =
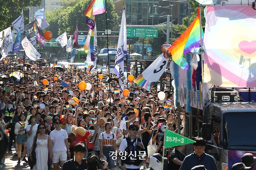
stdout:
{"type": "MultiPolygon", "coordinates": [[[[7,34],[9,34],[9,33],[7,33],[7,34]]],[[[7,35],[5,37],[3,46],[0,49],[0,53],[2,55],[2,58],[0,59],[0,61],[8,55],[8,52],[12,51],[13,43],[14,43],[14,30],[11,32],[10,35],[7,35]]]]}

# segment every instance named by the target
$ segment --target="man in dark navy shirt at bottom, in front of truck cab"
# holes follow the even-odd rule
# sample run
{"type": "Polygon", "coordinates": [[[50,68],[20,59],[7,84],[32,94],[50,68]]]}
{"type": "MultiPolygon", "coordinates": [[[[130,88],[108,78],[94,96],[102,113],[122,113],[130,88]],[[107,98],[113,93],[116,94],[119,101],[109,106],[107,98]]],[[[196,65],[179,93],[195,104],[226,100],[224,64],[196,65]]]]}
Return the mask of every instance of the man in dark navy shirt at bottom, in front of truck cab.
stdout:
{"type": "Polygon", "coordinates": [[[196,165],[204,165],[207,170],[218,170],[212,156],[205,153],[206,141],[202,137],[196,137],[193,143],[194,152],[185,157],[180,170],[191,170],[196,165]]]}

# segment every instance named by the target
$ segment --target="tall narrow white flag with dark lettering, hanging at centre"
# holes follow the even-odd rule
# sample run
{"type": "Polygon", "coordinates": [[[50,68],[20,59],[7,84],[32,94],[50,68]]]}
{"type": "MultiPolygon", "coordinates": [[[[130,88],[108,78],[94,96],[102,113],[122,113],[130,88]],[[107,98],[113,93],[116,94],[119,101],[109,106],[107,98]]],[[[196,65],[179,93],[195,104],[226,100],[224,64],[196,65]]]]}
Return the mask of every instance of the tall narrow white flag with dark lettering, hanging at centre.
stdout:
{"type": "Polygon", "coordinates": [[[125,18],[125,8],[123,7],[123,16],[121,21],[121,28],[119,32],[119,38],[117,43],[117,52],[116,52],[116,61],[114,71],[116,75],[119,77],[119,85],[120,90],[123,92],[124,90],[124,56],[127,54],[126,47],[126,18],[125,18]]]}

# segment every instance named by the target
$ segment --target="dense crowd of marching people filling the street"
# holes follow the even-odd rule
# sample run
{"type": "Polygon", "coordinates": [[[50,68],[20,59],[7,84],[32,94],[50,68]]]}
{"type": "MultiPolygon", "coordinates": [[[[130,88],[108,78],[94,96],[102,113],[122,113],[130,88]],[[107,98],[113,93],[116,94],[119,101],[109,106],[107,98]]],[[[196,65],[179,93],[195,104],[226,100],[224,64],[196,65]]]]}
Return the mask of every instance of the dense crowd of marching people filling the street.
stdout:
{"type": "MultiPolygon", "coordinates": [[[[7,57],[5,61],[0,67],[0,126],[9,134],[7,150],[15,148],[18,164],[23,161],[33,170],[139,170],[142,166],[159,170],[152,167],[163,159],[158,160],[163,153],[161,126],[173,132],[181,126],[184,132],[184,118],[178,119],[169,90],[162,89],[166,97],[160,101],[156,88],[149,92],[129,82],[130,93],[124,97],[114,75],[102,71],[98,74],[103,78],[98,78],[95,70],[72,66],[59,70],[40,63],[27,64],[23,71],[14,64],[23,64],[22,60],[7,57]],[[9,76],[13,72],[25,74],[9,76]],[[81,81],[91,88],[80,90],[81,81]],[[166,103],[171,107],[166,109],[166,103]],[[147,150],[150,143],[158,146],[154,153],[147,150]],[[158,161],[153,162],[149,153],[157,154],[158,161]]],[[[186,157],[184,145],[168,148],[168,169],[204,165],[217,170],[214,158],[204,153],[205,140],[195,141],[195,152],[186,157]]],[[[4,162],[5,157],[0,167],[4,162]]]]}

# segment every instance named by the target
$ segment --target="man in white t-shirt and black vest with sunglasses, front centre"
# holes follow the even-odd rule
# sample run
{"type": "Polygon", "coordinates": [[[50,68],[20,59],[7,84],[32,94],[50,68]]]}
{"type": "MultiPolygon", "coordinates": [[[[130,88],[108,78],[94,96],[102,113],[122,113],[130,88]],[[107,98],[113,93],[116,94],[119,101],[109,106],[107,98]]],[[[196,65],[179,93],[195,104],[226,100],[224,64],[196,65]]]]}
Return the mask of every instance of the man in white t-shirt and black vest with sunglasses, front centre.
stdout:
{"type": "Polygon", "coordinates": [[[139,156],[145,149],[137,134],[139,133],[139,127],[137,125],[130,125],[130,136],[122,140],[119,146],[119,155],[121,156],[122,170],[139,170],[139,165],[143,161],[143,156],[139,156]],[[122,157],[125,157],[122,158],[122,157]]]}

